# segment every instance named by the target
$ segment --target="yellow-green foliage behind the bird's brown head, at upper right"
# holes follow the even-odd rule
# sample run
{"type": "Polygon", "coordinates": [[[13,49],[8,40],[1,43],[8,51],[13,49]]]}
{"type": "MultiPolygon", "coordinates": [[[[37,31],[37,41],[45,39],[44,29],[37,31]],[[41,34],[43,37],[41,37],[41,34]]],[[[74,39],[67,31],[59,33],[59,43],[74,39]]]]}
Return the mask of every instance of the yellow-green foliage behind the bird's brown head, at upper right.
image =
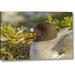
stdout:
{"type": "Polygon", "coordinates": [[[53,18],[54,16],[51,13],[48,13],[48,22],[53,23],[55,26],[59,28],[64,28],[68,26],[72,26],[73,18],[72,16],[60,16],[60,18],[53,18]]]}

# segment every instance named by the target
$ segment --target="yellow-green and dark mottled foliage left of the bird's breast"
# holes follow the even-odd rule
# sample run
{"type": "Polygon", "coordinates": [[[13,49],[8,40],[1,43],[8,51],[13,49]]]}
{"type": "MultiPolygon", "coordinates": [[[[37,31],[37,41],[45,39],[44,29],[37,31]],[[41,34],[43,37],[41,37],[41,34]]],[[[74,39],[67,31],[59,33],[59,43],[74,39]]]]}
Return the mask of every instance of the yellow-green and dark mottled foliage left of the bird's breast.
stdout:
{"type": "MultiPolygon", "coordinates": [[[[25,27],[22,27],[25,28],[25,27]]],[[[6,37],[7,40],[0,40],[2,48],[0,49],[2,60],[18,60],[29,59],[29,48],[32,43],[31,40],[19,41],[21,38],[32,36],[32,32],[24,31],[17,34],[16,26],[12,24],[1,25],[1,37],[6,37]]]]}

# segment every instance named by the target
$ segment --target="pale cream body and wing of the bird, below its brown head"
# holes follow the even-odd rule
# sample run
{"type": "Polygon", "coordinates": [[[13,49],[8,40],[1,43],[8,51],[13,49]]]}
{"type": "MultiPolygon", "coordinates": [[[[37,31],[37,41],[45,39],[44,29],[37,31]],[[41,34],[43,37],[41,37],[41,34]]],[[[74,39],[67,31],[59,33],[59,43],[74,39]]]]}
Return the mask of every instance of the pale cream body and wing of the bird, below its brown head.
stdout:
{"type": "Polygon", "coordinates": [[[64,59],[72,58],[72,29],[71,27],[61,29],[57,33],[57,36],[53,39],[49,39],[45,41],[44,40],[34,41],[30,47],[31,60],[63,59],[63,58],[64,59]],[[68,39],[70,40],[69,42],[70,45],[68,45],[67,37],[71,37],[68,39]],[[67,46],[69,47],[67,48],[67,46]],[[61,48],[65,49],[65,51],[61,48]],[[71,53],[69,52],[70,55],[68,54],[66,55],[66,52],[67,52],[66,49],[69,49],[69,48],[71,49],[71,53]]]}

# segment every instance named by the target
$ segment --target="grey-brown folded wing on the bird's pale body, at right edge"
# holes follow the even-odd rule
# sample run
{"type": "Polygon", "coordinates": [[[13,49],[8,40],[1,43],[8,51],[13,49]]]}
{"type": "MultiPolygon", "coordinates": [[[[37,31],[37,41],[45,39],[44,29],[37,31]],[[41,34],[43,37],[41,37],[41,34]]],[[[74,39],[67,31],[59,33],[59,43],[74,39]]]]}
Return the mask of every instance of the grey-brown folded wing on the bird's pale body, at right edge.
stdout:
{"type": "Polygon", "coordinates": [[[58,43],[53,47],[53,50],[56,50],[59,53],[59,55],[65,53],[67,54],[67,58],[72,58],[73,56],[72,32],[64,35],[61,39],[59,39],[58,43]]]}

